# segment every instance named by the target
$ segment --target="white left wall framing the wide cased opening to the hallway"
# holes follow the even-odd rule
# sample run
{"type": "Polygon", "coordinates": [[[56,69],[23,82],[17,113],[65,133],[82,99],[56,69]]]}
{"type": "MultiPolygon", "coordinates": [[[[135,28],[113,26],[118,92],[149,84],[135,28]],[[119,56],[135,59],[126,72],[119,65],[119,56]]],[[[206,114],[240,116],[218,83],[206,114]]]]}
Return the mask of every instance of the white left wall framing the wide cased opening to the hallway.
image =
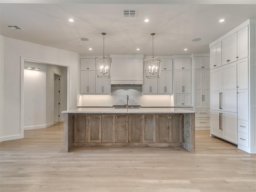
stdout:
{"type": "Polygon", "coordinates": [[[1,82],[4,82],[4,84],[0,84],[0,94],[1,98],[3,98],[0,108],[4,111],[4,113],[0,114],[2,122],[0,141],[23,138],[23,127],[21,128],[20,124],[21,57],[44,60],[46,63],[53,62],[60,66],[70,66],[68,76],[68,109],[77,107],[76,100],[79,98],[78,85],[80,84],[78,81],[80,56],[77,53],[1,36],[0,55],[1,73],[4,74],[4,80],[1,79],[1,82]],[[2,62],[4,62],[4,66],[2,66],[2,62]]]}

